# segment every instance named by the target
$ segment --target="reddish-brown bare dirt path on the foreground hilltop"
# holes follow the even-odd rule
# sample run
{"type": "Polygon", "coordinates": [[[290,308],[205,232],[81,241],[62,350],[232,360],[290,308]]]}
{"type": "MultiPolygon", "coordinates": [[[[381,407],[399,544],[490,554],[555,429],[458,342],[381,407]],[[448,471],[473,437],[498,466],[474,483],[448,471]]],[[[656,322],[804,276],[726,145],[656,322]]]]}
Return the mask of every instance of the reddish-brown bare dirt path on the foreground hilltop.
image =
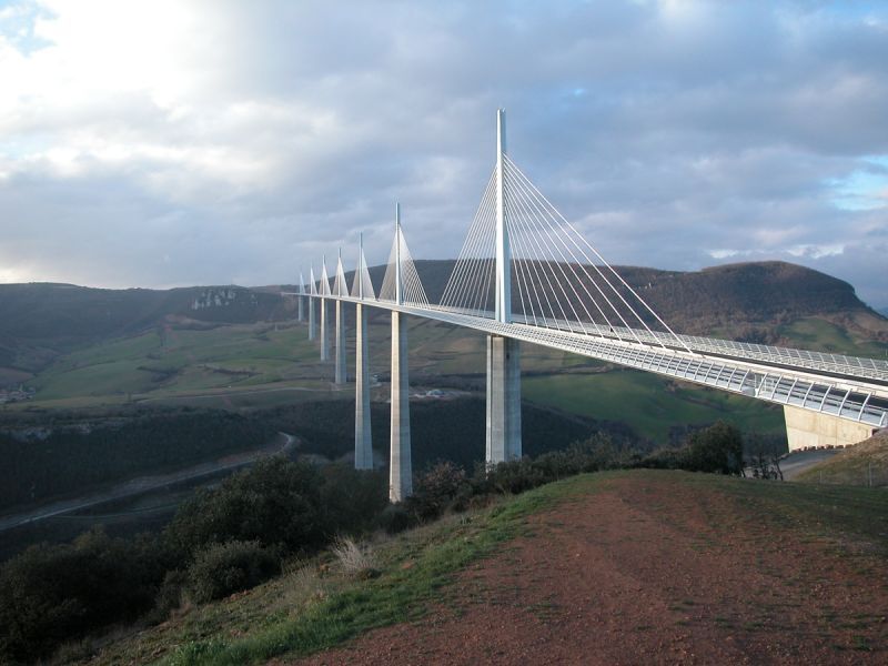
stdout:
{"type": "Polygon", "coordinates": [[[305,663],[888,663],[884,558],[738,515],[714,491],[616,481],[534,516],[418,623],[305,663]]]}

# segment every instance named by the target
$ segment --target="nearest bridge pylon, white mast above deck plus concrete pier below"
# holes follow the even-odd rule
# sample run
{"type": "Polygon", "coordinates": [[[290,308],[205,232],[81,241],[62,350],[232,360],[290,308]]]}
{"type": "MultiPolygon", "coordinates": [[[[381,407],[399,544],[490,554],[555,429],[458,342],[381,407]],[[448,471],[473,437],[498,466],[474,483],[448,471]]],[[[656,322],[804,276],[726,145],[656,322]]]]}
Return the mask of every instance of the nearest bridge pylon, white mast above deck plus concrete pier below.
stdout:
{"type": "MultiPolygon", "coordinates": [[[[496,312],[512,323],[512,250],[506,223],[506,115],[496,112],[496,312]]],[[[487,464],[521,457],[521,345],[501,335],[487,336],[487,464]]]]}

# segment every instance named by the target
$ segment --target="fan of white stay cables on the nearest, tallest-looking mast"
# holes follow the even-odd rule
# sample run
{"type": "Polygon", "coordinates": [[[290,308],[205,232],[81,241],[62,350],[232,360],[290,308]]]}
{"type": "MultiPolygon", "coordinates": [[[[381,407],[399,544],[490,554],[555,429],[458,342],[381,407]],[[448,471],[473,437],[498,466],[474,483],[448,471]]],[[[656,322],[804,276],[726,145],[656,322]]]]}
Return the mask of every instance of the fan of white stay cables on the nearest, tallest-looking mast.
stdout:
{"type": "MultiPolygon", "coordinates": [[[[503,155],[503,183],[513,321],[687,349],[508,155],[503,155]]],[[[494,170],[447,281],[442,309],[493,316],[496,194],[494,170]]]]}

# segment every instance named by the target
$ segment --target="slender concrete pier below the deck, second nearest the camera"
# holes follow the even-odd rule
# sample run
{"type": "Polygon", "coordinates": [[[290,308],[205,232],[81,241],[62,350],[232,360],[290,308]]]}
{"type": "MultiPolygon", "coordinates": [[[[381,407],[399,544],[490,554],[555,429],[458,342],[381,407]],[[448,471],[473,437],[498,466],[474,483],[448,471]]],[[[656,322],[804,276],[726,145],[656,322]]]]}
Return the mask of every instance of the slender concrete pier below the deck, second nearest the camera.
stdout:
{"type": "Polygon", "coordinates": [[[410,451],[410,376],[406,315],[392,312],[392,453],[389,498],[401,502],[413,494],[410,451]]]}

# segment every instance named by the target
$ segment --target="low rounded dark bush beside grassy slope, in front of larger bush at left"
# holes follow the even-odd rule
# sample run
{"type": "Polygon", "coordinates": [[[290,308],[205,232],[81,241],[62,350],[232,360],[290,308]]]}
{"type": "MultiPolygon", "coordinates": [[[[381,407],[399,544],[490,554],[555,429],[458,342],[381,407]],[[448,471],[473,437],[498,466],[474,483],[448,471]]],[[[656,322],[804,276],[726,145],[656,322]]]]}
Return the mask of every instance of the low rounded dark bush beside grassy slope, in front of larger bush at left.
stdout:
{"type": "Polygon", "coordinates": [[[199,604],[221,599],[268,581],[280,569],[279,559],[258,541],[211,544],[198,552],[188,569],[188,593],[199,604]]]}

